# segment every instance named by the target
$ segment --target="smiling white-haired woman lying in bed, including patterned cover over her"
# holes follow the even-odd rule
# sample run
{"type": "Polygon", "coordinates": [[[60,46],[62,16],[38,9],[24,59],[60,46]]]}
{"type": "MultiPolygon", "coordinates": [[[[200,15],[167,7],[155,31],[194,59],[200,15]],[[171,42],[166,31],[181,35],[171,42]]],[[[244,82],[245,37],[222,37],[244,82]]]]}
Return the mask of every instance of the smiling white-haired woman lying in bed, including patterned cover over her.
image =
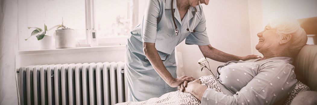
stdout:
{"type": "Polygon", "coordinates": [[[296,20],[274,20],[257,34],[256,49],[263,58],[229,61],[217,68],[216,79],[204,76],[184,85],[180,91],[159,98],[119,105],[203,104],[271,105],[287,96],[295,86],[293,58],[307,43],[306,32],[296,20]]]}

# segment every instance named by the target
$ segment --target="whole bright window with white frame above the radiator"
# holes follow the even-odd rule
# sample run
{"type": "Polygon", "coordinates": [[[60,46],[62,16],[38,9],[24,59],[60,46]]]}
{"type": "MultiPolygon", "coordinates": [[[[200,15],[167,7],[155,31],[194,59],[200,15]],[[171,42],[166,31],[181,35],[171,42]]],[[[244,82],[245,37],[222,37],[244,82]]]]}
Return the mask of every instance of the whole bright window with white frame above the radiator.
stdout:
{"type": "MultiPolygon", "coordinates": [[[[27,27],[48,29],[61,24],[76,30],[77,47],[88,45],[89,30],[96,30],[99,46],[122,45],[132,27],[132,14],[138,14],[139,0],[18,0],[19,50],[38,49],[39,41],[27,27]],[[131,5],[135,3],[134,5],[131,5]],[[138,6],[137,10],[132,6],[138,6]]],[[[137,15],[139,16],[139,15],[137,15]]],[[[138,21],[138,17],[134,18],[138,21]]],[[[135,23],[133,24],[135,25],[135,23]]],[[[48,35],[53,36],[55,29],[48,35]]]]}

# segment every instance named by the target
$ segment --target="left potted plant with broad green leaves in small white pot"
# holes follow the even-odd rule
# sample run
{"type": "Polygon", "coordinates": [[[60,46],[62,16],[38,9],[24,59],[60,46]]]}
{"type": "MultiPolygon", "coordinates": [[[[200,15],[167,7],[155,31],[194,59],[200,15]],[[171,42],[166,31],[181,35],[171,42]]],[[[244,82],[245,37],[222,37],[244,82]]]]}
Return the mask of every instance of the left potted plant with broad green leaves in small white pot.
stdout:
{"type": "MultiPolygon", "coordinates": [[[[53,38],[52,36],[48,35],[48,29],[47,26],[44,24],[44,30],[38,27],[28,27],[28,29],[34,28],[35,30],[32,31],[31,38],[32,36],[36,36],[37,40],[40,41],[40,49],[51,49],[52,48],[52,43],[53,43],[53,38]]],[[[25,39],[28,40],[29,38],[25,39]]]]}

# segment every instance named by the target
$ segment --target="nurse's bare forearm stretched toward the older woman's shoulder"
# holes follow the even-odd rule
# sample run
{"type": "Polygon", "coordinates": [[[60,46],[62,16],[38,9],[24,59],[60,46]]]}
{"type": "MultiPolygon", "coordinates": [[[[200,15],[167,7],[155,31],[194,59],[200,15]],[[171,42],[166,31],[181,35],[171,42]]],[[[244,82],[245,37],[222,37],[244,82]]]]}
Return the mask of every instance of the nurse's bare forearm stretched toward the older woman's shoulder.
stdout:
{"type": "Polygon", "coordinates": [[[199,46],[200,51],[204,57],[210,58],[215,61],[228,62],[228,61],[239,61],[240,56],[232,55],[213,48],[210,44],[205,46],[199,46]]]}

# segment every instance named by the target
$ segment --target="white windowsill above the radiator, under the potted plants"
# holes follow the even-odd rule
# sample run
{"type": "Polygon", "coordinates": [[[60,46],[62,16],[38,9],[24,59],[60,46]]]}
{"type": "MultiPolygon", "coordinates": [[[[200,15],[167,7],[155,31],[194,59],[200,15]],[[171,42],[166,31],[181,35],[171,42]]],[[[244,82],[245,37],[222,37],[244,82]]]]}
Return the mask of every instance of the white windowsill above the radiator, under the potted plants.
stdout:
{"type": "Polygon", "coordinates": [[[125,50],[125,47],[126,47],[126,45],[114,45],[114,46],[76,47],[76,48],[48,49],[48,50],[21,50],[18,52],[18,55],[39,55],[39,54],[62,54],[62,53],[113,51],[113,50],[125,50]]]}

